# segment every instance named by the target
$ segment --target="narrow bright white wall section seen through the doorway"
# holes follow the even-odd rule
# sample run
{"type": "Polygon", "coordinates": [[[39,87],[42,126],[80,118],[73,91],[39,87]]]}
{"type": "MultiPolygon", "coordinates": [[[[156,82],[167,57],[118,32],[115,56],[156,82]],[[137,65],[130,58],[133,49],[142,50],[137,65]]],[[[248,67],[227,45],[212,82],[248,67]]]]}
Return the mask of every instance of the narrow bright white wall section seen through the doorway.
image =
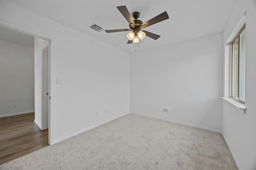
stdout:
{"type": "Polygon", "coordinates": [[[49,45],[44,39],[34,39],[34,63],[35,63],[35,120],[40,129],[42,126],[42,49],[49,45]]]}

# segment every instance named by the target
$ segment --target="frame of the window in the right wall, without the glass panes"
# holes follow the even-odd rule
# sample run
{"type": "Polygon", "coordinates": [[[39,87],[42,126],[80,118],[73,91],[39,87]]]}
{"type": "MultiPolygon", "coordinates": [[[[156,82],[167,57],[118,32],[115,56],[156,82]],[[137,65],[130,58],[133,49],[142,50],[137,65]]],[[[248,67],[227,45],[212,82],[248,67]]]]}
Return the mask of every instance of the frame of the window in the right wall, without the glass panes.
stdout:
{"type": "MultiPolygon", "coordinates": [[[[240,64],[240,35],[241,33],[246,30],[246,24],[244,24],[242,26],[242,28],[240,29],[240,31],[237,33],[237,35],[234,37],[234,39],[231,41],[230,43],[230,97],[233,98],[234,100],[237,100],[238,102],[241,102],[243,104],[245,104],[245,100],[241,99],[240,97],[240,86],[241,86],[241,80],[240,80],[240,74],[242,74],[240,72],[240,68],[241,68],[241,64],[240,64]],[[233,96],[233,84],[234,84],[234,81],[233,81],[233,44],[238,41],[238,89],[237,89],[237,92],[238,92],[238,98],[234,97],[233,96]]],[[[244,56],[245,57],[245,56],[244,56]]],[[[245,70],[244,70],[245,71],[245,70]]],[[[244,87],[244,91],[245,91],[245,87],[244,87]]]]}

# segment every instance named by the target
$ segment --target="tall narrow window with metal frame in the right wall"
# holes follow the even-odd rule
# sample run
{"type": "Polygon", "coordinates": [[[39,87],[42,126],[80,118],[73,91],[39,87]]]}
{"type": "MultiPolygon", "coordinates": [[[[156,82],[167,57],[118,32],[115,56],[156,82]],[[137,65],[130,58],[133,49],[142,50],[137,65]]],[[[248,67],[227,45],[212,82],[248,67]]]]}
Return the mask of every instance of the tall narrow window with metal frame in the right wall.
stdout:
{"type": "Polygon", "coordinates": [[[231,42],[231,97],[245,102],[245,25],[231,42]]]}

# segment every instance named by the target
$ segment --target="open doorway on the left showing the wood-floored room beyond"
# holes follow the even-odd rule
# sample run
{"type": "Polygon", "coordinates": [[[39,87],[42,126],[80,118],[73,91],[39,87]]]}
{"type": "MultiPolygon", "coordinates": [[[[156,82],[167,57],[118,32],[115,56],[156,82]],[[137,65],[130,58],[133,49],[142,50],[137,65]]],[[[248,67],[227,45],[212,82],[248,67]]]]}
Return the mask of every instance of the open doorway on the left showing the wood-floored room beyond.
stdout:
{"type": "MultiPolygon", "coordinates": [[[[16,30],[1,26],[1,112],[0,112],[0,164],[14,160],[20,156],[39,150],[50,144],[48,134],[48,115],[42,115],[42,111],[35,109],[35,101],[42,103],[36,98],[35,84],[37,90],[38,83],[35,77],[41,79],[48,92],[49,84],[49,45],[37,48],[40,56],[36,55],[35,37],[28,36],[16,30]],[[35,57],[37,58],[35,60],[35,57]],[[44,57],[44,60],[43,60],[44,57]],[[40,61],[41,65],[35,64],[40,61]],[[44,64],[42,64],[44,61],[44,64]],[[36,66],[35,66],[36,65],[36,66]],[[44,68],[44,79],[42,78],[42,68],[44,68]],[[36,73],[40,73],[38,76],[36,73]],[[14,74],[15,73],[15,74],[14,74]],[[36,75],[36,76],[35,76],[36,75]],[[36,100],[35,100],[36,99],[36,100]],[[41,114],[39,122],[43,128],[35,121],[36,113],[41,114]],[[44,130],[45,129],[45,130],[44,130]]],[[[39,46],[40,47],[40,46],[39,46]]],[[[42,88],[41,84],[41,88],[42,88]]],[[[38,93],[43,93],[38,90],[38,93]]],[[[42,96],[42,95],[41,95],[42,96]]],[[[46,98],[44,108],[48,113],[49,100],[46,98]]],[[[37,102],[37,105],[38,103],[37,102]]],[[[42,105],[42,104],[41,104],[42,105]]]]}

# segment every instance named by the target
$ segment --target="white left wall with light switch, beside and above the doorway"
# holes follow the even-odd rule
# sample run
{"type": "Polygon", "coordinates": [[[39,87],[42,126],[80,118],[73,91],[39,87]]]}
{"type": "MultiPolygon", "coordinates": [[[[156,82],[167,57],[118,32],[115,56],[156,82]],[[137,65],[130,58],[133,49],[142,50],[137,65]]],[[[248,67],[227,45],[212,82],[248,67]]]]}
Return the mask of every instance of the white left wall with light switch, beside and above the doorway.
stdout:
{"type": "Polygon", "coordinates": [[[3,21],[54,38],[54,80],[63,78],[52,97],[54,142],[129,113],[128,53],[10,1],[1,1],[0,12],[3,21]]]}

